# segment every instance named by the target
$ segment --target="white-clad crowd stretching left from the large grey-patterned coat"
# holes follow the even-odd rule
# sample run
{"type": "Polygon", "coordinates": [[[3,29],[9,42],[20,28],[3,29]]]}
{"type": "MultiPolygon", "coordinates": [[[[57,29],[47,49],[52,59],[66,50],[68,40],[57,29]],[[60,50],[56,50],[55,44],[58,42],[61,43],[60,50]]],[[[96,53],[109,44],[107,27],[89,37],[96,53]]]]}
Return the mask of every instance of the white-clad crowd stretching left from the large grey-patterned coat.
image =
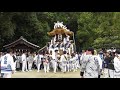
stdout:
{"type": "Polygon", "coordinates": [[[58,50],[52,52],[43,53],[30,53],[23,51],[23,53],[13,53],[8,51],[7,53],[0,54],[1,61],[1,75],[2,77],[11,77],[10,72],[16,71],[28,72],[33,69],[37,69],[37,72],[44,69],[44,72],[57,71],[70,72],[77,71],[80,68],[79,56],[76,53],[70,55],[63,52],[62,55],[58,53],[58,50]],[[6,63],[5,63],[6,60],[6,63]],[[8,61],[7,61],[8,60],[8,61]],[[8,67],[10,65],[11,67],[8,67]],[[8,70],[11,69],[11,70],[8,70]],[[8,76],[4,73],[9,73],[8,76]]]}

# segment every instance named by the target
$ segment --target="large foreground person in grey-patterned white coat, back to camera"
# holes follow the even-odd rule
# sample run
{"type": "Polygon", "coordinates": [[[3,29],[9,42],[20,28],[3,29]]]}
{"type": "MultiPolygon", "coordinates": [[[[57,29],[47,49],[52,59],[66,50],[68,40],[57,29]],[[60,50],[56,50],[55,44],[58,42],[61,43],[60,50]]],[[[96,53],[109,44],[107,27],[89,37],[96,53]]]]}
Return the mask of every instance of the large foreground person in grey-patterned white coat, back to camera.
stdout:
{"type": "Polygon", "coordinates": [[[99,60],[94,56],[94,49],[89,48],[83,58],[80,76],[81,78],[99,78],[99,72],[99,60]]]}

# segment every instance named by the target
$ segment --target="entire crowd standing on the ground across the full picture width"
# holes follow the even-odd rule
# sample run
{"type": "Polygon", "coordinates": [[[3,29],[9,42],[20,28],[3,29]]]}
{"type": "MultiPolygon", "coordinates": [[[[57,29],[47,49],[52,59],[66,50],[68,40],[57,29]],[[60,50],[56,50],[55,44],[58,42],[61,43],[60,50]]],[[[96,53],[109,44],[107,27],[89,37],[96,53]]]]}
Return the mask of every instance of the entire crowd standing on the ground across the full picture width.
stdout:
{"type": "Polygon", "coordinates": [[[16,71],[37,72],[44,70],[45,73],[58,71],[75,72],[80,70],[81,78],[120,78],[120,50],[99,51],[98,53],[89,48],[82,53],[71,53],[64,51],[60,54],[58,50],[31,53],[23,51],[6,53],[0,52],[1,77],[11,78],[16,71]]]}

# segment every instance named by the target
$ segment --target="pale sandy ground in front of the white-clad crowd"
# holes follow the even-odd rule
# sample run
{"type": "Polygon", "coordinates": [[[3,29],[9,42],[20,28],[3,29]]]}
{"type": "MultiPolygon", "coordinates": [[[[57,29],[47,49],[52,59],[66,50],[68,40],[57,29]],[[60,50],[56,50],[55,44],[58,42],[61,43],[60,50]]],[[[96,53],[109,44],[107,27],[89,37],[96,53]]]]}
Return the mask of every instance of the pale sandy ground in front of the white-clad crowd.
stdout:
{"type": "MultiPolygon", "coordinates": [[[[80,70],[76,72],[57,72],[56,74],[50,71],[49,73],[44,73],[43,70],[37,72],[37,70],[33,70],[30,72],[21,72],[17,71],[12,74],[12,78],[80,78],[80,70]]],[[[103,76],[102,76],[103,77],[103,76]]]]}

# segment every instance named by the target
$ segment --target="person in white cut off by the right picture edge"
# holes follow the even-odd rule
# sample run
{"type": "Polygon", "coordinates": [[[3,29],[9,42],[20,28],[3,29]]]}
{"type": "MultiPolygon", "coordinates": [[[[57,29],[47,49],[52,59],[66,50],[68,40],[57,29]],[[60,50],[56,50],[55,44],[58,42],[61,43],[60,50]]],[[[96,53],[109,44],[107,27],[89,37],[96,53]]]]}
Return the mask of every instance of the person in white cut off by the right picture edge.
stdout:
{"type": "Polygon", "coordinates": [[[120,50],[116,50],[114,57],[114,78],[120,78],[120,50]]]}

